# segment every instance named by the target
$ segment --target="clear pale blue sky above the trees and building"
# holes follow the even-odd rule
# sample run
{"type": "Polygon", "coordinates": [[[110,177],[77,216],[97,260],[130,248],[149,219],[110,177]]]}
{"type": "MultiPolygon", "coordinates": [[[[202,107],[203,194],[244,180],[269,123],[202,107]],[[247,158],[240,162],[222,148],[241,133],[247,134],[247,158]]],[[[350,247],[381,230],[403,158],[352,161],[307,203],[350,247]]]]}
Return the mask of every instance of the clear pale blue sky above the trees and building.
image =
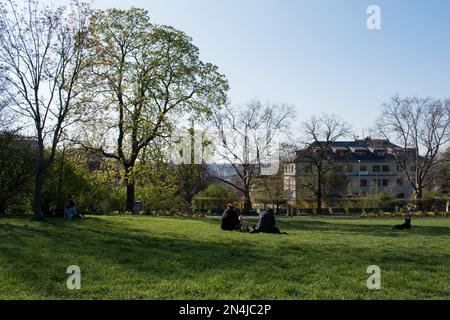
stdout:
{"type": "MultiPolygon", "coordinates": [[[[335,113],[368,128],[390,96],[450,97],[448,0],[94,0],[149,10],[193,37],[236,104],[296,106],[298,121],[335,113]],[[369,5],[382,29],[366,27],[369,5]]],[[[360,130],[359,130],[360,132],[360,130]]]]}

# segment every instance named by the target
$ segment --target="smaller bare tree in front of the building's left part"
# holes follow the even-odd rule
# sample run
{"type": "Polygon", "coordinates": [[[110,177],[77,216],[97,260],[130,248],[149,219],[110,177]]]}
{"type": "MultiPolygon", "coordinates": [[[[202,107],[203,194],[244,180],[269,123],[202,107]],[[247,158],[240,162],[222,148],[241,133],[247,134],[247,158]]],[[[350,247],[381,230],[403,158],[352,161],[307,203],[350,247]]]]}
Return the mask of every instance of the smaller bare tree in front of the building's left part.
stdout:
{"type": "MultiPolygon", "coordinates": [[[[350,134],[347,123],[334,115],[324,114],[321,117],[312,117],[301,126],[302,143],[305,146],[300,157],[307,165],[306,170],[313,180],[306,179],[303,184],[316,196],[317,213],[322,213],[322,198],[324,179],[334,170],[330,161],[331,145],[333,142],[350,134]]],[[[300,185],[302,183],[300,182],[300,185]]]]}

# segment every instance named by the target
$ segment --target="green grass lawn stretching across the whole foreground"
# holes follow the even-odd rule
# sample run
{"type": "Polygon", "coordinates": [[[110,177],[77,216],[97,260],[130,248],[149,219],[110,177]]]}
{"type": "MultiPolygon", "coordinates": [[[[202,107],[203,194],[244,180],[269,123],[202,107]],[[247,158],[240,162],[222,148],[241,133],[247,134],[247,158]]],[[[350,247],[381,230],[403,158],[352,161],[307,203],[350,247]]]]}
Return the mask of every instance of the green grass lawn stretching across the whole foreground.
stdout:
{"type": "Polygon", "coordinates": [[[0,299],[449,299],[450,219],[279,219],[288,235],[219,220],[0,218],[0,299]],[[68,290],[66,268],[81,268],[68,290]],[[381,268],[381,290],[366,269],[381,268]]]}

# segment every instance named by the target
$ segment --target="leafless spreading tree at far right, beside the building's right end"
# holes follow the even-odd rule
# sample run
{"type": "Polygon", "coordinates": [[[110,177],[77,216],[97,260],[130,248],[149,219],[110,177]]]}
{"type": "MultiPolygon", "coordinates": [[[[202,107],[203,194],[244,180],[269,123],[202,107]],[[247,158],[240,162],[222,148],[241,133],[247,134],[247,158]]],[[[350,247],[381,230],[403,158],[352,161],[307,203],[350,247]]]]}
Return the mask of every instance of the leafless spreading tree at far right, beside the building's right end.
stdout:
{"type": "Polygon", "coordinates": [[[383,105],[377,128],[400,145],[390,152],[415,199],[422,199],[435,177],[432,169],[442,161],[439,153],[450,142],[450,100],[394,96],[383,105]]]}

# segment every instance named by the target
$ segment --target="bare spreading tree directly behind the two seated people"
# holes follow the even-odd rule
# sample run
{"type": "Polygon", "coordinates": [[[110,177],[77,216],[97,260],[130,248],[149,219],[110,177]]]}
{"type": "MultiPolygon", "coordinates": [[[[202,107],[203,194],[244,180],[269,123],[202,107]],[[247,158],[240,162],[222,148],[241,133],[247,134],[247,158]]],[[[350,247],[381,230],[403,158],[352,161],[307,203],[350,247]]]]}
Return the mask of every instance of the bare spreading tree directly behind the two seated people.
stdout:
{"type": "MultiPolygon", "coordinates": [[[[217,175],[215,178],[243,194],[245,211],[252,208],[250,191],[254,178],[261,174],[261,166],[267,164],[264,158],[277,154],[277,135],[289,126],[294,115],[292,106],[252,101],[242,110],[227,106],[213,117],[219,133],[217,156],[232,166],[237,181],[217,175]]],[[[279,158],[274,160],[279,163],[279,158]]]]}

